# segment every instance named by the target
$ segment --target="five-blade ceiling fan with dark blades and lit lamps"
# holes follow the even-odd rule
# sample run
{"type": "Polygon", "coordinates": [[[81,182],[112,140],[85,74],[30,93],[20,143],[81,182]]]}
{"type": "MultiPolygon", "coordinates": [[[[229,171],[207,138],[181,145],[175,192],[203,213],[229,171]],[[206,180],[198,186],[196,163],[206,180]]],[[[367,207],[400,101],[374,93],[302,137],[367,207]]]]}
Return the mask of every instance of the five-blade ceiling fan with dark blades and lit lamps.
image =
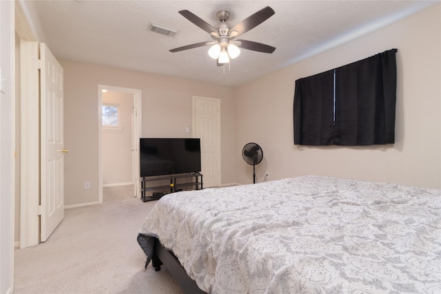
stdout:
{"type": "Polygon", "coordinates": [[[269,19],[269,17],[271,17],[274,13],[274,10],[267,6],[247,17],[247,19],[244,19],[237,25],[234,25],[234,27],[229,28],[227,25],[229,12],[226,10],[221,10],[216,13],[216,18],[220,21],[219,28],[216,29],[200,17],[196,16],[196,14],[193,14],[188,10],[181,10],[179,11],[179,14],[197,25],[199,28],[205,30],[205,32],[211,34],[214,41],[194,43],[191,45],[174,48],[170,50],[170,52],[179,52],[205,45],[212,45],[212,47],[208,50],[208,54],[210,57],[212,57],[212,59],[216,59],[218,65],[229,63],[230,59],[235,59],[240,54],[239,48],[257,52],[272,53],[274,50],[276,50],[275,47],[254,41],[235,40],[235,38],[240,34],[256,28],[257,25],[260,25],[260,23],[263,23],[269,19]]]}

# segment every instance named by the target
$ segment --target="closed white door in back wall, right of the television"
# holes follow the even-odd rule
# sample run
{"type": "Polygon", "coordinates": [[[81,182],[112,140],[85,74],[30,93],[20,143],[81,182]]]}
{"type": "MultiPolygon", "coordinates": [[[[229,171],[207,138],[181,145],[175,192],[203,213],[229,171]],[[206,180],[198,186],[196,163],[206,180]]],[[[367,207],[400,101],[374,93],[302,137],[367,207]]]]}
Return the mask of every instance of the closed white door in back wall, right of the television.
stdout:
{"type": "Polygon", "coordinates": [[[194,137],[201,138],[203,187],[220,185],[220,101],[194,97],[194,137]]]}

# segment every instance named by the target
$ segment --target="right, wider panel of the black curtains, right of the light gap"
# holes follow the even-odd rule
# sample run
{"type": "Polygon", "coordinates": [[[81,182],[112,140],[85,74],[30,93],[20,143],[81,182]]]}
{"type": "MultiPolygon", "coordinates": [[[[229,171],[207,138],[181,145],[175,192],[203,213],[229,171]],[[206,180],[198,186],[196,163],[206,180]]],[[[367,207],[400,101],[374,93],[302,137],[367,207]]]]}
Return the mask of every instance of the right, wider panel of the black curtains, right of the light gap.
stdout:
{"type": "Polygon", "coordinates": [[[395,140],[396,49],[336,69],[336,145],[395,140]]]}

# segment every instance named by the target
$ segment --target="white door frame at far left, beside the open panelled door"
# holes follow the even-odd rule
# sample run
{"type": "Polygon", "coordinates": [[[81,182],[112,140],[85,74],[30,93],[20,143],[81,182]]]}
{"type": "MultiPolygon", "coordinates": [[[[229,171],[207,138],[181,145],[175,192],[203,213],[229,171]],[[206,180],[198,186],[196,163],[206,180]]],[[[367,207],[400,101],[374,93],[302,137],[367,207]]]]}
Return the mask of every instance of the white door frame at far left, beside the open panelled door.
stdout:
{"type": "MultiPolygon", "coordinates": [[[[39,70],[37,32],[21,1],[15,4],[15,32],[20,39],[20,230],[21,249],[39,244],[39,70]]],[[[18,196],[16,196],[18,197],[18,196]]],[[[17,208],[16,208],[17,211],[17,208]]]]}

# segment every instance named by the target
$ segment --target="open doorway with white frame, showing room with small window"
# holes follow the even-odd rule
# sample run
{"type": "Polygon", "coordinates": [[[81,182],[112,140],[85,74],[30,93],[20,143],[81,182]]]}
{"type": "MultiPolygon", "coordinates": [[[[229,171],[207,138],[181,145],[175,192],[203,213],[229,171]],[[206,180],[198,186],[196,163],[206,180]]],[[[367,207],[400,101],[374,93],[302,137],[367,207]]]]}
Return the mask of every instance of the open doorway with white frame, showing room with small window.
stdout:
{"type": "Polygon", "coordinates": [[[99,85],[99,203],[140,197],[139,109],[141,90],[99,85]]]}

